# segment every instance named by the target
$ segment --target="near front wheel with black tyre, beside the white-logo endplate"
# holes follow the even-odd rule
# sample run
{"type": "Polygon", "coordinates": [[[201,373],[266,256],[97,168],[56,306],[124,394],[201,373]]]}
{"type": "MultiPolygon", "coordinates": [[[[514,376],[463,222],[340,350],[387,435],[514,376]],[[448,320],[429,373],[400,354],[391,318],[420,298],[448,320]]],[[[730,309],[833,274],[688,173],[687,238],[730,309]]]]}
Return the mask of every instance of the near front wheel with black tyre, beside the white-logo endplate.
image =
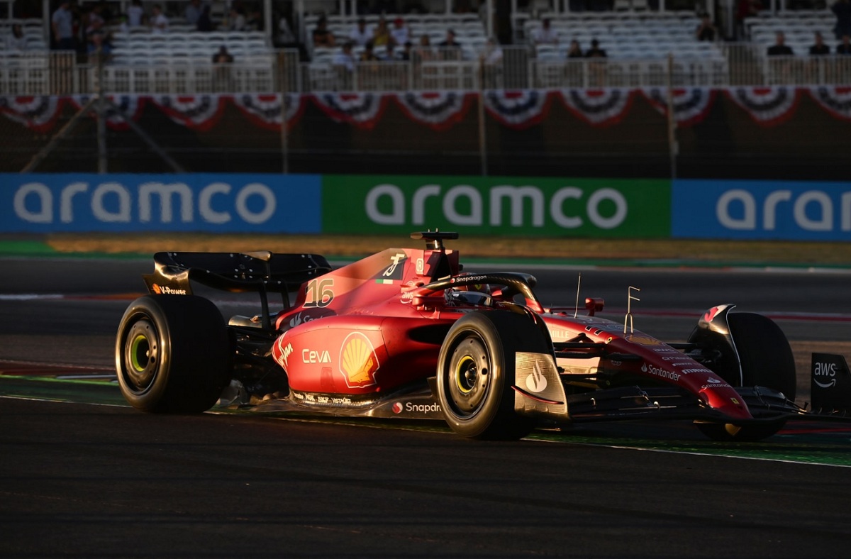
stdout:
{"type": "Polygon", "coordinates": [[[532,431],[533,421],[514,412],[517,351],[547,351],[525,315],[471,312],[449,329],[437,361],[437,398],[453,431],[488,440],[516,440],[532,431]]]}

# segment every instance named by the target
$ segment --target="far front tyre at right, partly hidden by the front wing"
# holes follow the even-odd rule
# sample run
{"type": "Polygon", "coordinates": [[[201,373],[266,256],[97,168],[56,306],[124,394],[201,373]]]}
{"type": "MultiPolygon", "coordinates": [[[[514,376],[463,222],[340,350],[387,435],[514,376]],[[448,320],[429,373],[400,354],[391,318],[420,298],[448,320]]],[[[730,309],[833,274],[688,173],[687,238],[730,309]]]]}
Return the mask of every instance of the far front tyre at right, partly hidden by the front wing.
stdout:
{"type": "MultiPolygon", "coordinates": [[[[765,386],[781,391],[787,400],[797,393],[795,357],[780,327],[770,318],[751,312],[728,315],[730,334],[741,361],[739,371],[717,371],[733,386],[765,386]]],[[[786,419],[759,425],[697,424],[716,441],[760,441],[783,428],[786,419]]]]}

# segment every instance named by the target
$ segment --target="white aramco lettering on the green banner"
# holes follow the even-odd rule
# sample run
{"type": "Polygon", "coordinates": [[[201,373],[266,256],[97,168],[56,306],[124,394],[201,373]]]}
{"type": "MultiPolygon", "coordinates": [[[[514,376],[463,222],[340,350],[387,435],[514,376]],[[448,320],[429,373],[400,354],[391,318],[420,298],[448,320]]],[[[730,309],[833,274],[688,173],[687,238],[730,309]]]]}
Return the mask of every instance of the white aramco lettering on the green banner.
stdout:
{"type": "Polygon", "coordinates": [[[586,225],[586,220],[599,229],[614,229],[624,223],[628,213],[626,198],[614,188],[588,194],[576,186],[564,186],[549,199],[547,196],[532,185],[454,185],[445,191],[440,185],[423,185],[408,201],[402,188],[383,184],[368,191],[365,210],[369,220],[378,225],[426,225],[447,220],[453,225],[544,227],[549,217],[563,229],[576,229],[586,225]],[[435,214],[433,202],[426,203],[431,198],[440,202],[441,214],[435,214]]]}

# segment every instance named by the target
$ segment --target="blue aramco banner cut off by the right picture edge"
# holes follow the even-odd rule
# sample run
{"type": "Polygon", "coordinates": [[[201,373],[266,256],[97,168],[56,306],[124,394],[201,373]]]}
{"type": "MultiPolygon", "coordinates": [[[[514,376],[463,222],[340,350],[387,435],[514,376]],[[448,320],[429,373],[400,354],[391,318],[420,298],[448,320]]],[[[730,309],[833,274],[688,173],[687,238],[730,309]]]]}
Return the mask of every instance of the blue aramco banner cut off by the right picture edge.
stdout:
{"type": "Polygon", "coordinates": [[[851,241],[851,182],[674,180],[671,237],[851,241]]]}

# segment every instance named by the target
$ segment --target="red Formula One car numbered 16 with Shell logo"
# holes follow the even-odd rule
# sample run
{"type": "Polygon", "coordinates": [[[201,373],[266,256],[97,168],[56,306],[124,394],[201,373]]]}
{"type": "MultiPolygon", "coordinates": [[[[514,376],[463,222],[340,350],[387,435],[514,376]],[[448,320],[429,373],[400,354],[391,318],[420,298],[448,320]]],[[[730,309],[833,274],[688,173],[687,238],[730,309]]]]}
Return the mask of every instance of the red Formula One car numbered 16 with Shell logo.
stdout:
{"type": "Polygon", "coordinates": [[[148,412],[198,413],[224,401],[443,419],[462,436],[490,439],[671,418],[693,419],[713,439],[757,440],[803,413],[789,344],[767,317],[715,306],[688,341],[665,343],[595,316],[601,299],[586,299],[578,316],[542,304],[529,274],[463,272],[444,247],[455,233],[411,237],[426,247],[337,270],[316,254],[157,253],[145,276],[151,294],[129,305],[118,328],[124,397],[148,412]],[[201,285],[256,292],[260,312],[225,322],[193,294],[201,285]],[[283,310],[273,313],[278,296],[283,310]]]}

